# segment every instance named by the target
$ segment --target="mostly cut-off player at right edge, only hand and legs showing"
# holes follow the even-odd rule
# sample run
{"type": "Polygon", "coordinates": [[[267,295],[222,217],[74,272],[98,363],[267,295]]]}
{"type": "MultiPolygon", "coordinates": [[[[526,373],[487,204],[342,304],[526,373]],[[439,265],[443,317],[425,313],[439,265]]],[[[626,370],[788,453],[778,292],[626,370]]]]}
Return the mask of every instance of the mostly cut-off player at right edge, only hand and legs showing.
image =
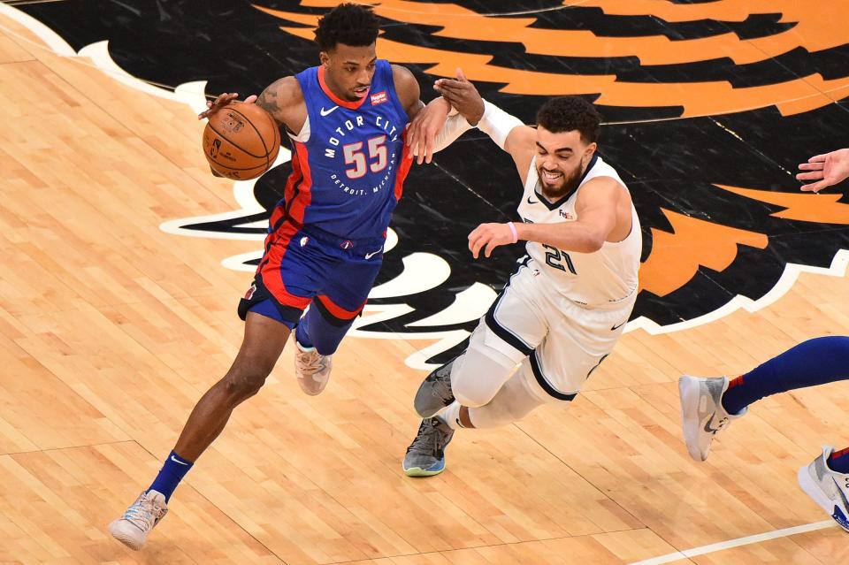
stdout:
{"type": "MultiPolygon", "coordinates": [[[[849,149],[838,149],[799,164],[796,178],[808,182],[807,192],[819,192],[849,178],[849,149]]],[[[678,380],[681,417],[687,452],[707,460],[717,432],[745,416],[755,401],[806,386],[849,378],[849,337],[830,336],[800,343],[737,378],[678,380]]],[[[835,451],[823,446],[813,462],[799,469],[802,490],[849,531],[849,447],[835,451]]]]}

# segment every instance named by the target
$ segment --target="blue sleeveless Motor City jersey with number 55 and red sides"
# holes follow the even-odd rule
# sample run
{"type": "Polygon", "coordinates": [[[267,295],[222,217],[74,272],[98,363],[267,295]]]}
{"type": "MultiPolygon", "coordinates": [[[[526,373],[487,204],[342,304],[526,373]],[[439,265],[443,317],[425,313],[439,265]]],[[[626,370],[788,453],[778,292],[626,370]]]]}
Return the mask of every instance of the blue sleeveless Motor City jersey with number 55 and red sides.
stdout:
{"type": "Polygon", "coordinates": [[[350,240],[385,237],[389,218],[412,160],[409,121],[395,93],[392,65],[379,60],[371,87],[356,102],[327,88],[324,67],[295,78],[307,106],[307,123],[292,145],[292,175],[280,205],[285,217],[350,240]]]}

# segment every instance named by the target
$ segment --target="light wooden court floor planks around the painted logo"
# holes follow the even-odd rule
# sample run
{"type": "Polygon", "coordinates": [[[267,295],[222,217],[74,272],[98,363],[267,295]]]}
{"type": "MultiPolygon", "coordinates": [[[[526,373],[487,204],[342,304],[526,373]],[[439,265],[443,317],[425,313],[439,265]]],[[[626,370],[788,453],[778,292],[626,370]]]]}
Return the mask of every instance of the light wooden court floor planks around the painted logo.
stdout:
{"type": "Polygon", "coordinates": [[[420,343],[348,340],[317,398],[286,351],[130,552],[106,524],[236,353],[250,275],[220,258],[256,244],[158,227],[233,208],[187,105],[0,24],[0,563],[849,563],[796,485],[821,443],[849,442],[849,386],[760,402],[702,464],[676,386],[845,332],[844,263],[755,312],[627,333],[569,408],[460,432],[424,480],[401,470],[420,343]]]}

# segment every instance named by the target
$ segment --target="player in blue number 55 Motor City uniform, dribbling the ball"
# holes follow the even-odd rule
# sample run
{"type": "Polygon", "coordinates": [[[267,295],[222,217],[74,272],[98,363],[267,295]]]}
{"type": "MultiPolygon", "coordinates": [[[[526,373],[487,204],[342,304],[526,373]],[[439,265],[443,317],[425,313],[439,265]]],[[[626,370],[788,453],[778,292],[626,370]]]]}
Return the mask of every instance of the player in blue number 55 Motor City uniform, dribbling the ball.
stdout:
{"type": "MultiPolygon", "coordinates": [[[[331,355],[380,269],[389,219],[412,164],[406,126],[424,106],[413,74],[376,57],[378,33],[370,8],[340,4],[318,22],[321,65],[246,99],[286,128],[293,172],[239,305],[245,320],[239,354],[198,401],[153,484],[111,523],[111,534],[126,546],[145,545],[182,477],[233,408],[263,386],[295,328],[303,391],[320,393],[330,377],[331,355]]],[[[200,118],[235,97],[218,96],[200,118]]]]}

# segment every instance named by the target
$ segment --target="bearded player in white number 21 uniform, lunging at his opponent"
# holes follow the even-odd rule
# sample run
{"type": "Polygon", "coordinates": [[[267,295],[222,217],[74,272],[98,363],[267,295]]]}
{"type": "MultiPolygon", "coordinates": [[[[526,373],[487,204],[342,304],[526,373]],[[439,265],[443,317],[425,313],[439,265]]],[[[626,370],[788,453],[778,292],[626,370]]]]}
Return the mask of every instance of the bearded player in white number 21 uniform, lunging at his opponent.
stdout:
{"type": "Polygon", "coordinates": [[[631,316],[642,248],[631,195],[596,155],[600,117],[593,104],[554,98],[533,128],[482,100],[462,72],[436,88],[443,98],[414,123],[417,139],[432,137],[422,123],[441,125],[447,103],[458,113],[437,147],[417,151],[419,158],[475,125],[513,157],[524,185],[516,191],[521,221],[479,225],[469,235],[472,256],[518,241],[526,241],[527,256],[463,355],[419,387],[415,406],[424,420],[403,462],[413,477],[445,469],[444,449],[457,429],[509,424],[547,402],[574,399],[631,316]]]}

